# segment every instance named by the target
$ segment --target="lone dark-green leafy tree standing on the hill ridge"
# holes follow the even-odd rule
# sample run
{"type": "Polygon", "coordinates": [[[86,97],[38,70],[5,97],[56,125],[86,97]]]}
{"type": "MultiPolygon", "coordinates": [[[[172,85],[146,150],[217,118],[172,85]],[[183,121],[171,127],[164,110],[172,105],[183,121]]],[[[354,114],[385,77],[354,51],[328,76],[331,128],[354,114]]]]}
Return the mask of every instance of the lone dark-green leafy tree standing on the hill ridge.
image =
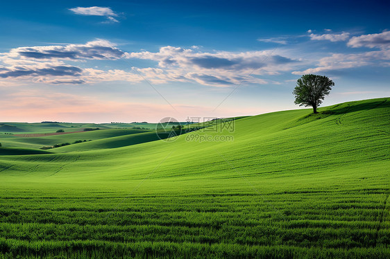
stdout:
{"type": "Polygon", "coordinates": [[[323,75],[302,75],[296,81],[296,87],[293,91],[295,95],[294,103],[302,106],[312,106],[314,114],[317,113],[317,107],[321,104],[323,98],[329,95],[334,87],[334,82],[323,75]]]}

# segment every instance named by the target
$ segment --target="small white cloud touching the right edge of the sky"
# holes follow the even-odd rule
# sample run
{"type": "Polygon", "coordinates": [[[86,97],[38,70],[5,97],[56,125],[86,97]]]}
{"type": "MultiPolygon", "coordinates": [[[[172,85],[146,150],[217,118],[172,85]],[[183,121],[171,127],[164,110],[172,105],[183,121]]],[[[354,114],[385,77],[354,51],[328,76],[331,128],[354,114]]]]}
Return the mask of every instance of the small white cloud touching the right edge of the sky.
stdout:
{"type": "Polygon", "coordinates": [[[353,48],[390,48],[390,31],[352,37],[347,45],[353,48]]]}

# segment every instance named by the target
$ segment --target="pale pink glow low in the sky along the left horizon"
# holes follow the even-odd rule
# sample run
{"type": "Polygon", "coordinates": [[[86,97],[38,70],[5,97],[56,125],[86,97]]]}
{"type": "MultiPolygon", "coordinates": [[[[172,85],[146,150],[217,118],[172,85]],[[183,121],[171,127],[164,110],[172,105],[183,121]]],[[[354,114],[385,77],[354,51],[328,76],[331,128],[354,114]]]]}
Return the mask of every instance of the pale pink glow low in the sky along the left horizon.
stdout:
{"type": "Polygon", "coordinates": [[[98,100],[65,93],[12,94],[12,98],[2,101],[2,107],[0,121],[28,123],[43,120],[71,123],[153,123],[167,116],[184,121],[187,116],[230,117],[261,113],[256,109],[223,109],[212,112],[214,107],[173,104],[177,112],[168,104],[98,100]]]}

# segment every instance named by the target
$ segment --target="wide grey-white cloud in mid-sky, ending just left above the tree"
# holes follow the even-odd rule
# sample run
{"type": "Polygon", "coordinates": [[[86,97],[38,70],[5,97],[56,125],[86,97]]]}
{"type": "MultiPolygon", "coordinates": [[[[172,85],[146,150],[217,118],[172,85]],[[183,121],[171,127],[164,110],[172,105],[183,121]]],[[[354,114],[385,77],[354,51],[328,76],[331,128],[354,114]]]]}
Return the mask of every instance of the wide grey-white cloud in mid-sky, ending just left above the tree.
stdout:
{"type": "Polygon", "coordinates": [[[260,83],[265,81],[255,75],[275,75],[295,66],[297,61],[269,51],[200,52],[193,49],[165,46],[152,53],[126,53],[128,58],[153,60],[176,80],[198,82],[203,85],[229,86],[241,82],[260,83]]]}

